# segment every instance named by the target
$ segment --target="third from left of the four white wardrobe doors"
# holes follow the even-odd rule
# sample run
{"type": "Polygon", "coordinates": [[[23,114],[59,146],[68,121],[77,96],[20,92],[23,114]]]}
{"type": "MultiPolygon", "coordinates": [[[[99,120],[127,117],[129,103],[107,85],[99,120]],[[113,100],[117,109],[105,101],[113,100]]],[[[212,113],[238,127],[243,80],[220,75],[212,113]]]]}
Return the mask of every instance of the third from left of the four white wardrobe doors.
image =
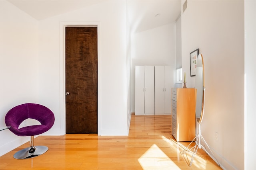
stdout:
{"type": "Polygon", "coordinates": [[[155,115],[164,114],[164,66],[155,66],[155,115]]]}

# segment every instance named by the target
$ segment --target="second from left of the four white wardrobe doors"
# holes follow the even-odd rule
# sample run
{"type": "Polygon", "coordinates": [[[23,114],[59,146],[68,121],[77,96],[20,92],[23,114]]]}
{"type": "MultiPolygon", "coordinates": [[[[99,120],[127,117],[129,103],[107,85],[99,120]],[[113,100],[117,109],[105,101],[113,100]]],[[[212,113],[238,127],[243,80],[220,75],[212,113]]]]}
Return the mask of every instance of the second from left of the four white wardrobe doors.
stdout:
{"type": "Polygon", "coordinates": [[[145,66],[145,115],[154,115],[154,70],[145,66]]]}

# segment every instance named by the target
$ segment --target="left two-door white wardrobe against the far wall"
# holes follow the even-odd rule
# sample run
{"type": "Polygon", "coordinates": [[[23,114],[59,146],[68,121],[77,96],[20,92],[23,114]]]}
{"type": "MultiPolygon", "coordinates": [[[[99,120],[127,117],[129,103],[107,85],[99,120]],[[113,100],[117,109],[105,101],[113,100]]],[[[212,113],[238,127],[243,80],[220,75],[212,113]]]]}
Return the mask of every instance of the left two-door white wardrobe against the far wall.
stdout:
{"type": "Polygon", "coordinates": [[[154,66],[135,66],[135,114],[154,115],[154,66]]]}

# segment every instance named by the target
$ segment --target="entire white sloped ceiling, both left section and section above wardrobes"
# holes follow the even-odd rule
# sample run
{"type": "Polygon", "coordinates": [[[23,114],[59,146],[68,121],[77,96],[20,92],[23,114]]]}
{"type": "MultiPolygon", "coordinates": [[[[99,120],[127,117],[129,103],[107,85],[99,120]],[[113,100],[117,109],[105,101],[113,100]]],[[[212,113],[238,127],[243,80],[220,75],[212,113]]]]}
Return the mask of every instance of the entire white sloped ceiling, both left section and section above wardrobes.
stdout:
{"type": "MultiPolygon", "coordinates": [[[[8,0],[39,21],[106,1],[108,0],[8,0]]],[[[181,0],[126,0],[126,2],[128,19],[134,32],[175,22],[181,11],[181,0]]]]}

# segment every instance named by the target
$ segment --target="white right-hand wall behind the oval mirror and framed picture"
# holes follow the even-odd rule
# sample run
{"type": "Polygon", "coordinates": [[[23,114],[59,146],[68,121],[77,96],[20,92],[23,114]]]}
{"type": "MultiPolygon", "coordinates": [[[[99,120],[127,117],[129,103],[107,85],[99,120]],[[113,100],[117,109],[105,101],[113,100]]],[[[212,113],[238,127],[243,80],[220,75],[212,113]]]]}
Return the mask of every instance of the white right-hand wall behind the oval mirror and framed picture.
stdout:
{"type": "MultiPolygon", "coordinates": [[[[244,1],[188,0],[182,14],[182,70],[190,52],[204,57],[202,135],[222,168],[244,169],[244,1]],[[217,12],[218,11],[218,12],[217,12]],[[215,140],[218,133],[218,141],[215,140]]],[[[195,86],[188,77],[187,87],[195,86]]]]}

